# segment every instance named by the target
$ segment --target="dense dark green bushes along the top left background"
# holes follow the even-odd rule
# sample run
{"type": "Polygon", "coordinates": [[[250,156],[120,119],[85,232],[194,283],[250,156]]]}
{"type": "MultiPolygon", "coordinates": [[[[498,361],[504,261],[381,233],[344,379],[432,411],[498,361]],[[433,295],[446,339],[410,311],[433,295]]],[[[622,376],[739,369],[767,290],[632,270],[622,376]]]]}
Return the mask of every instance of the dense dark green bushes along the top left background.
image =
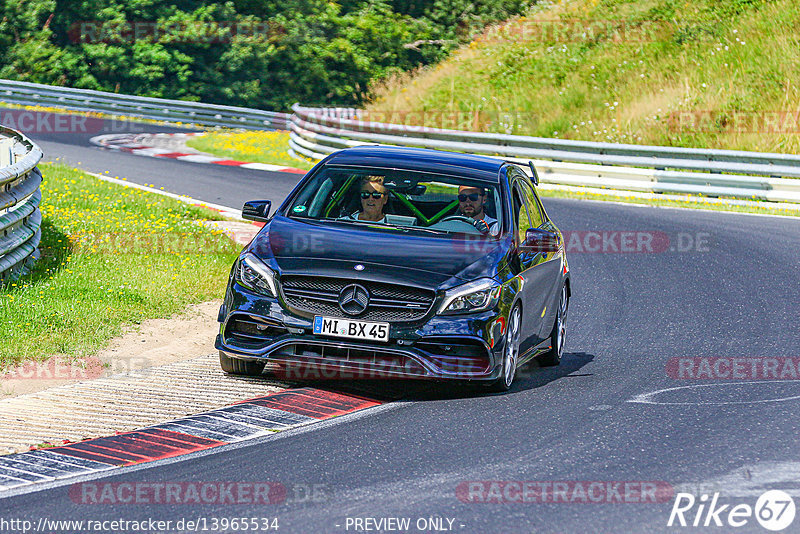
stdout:
{"type": "Polygon", "coordinates": [[[262,109],[351,106],[373,81],[435,63],[528,4],[6,0],[0,78],[262,109]],[[126,24],[142,22],[175,26],[161,38],[131,38],[126,24]],[[233,35],[229,23],[258,30],[233,35]]]}

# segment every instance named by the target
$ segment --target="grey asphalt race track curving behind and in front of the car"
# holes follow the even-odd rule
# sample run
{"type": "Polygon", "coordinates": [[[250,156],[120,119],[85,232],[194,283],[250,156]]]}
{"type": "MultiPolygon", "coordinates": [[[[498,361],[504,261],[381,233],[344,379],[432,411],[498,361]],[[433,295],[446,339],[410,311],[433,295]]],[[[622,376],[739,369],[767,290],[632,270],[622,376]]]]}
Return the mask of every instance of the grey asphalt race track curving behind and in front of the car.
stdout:
{"type": "MultiPolygon", "coordinates": [[[[106,153],[77,141],[41,144],[51,158],[230,206],[282,198],[297,180],[106,153]]],[[[463,533],[689,530],[667,526],[674,496],[640,503],[622,490],[627,502],[591,503],[577,490],[627,481],[709,501],[718,492],[718,503],[729,505],[719,516],[725,526],[692,530],[765,532],[754,517],[731,527],[728,512],[739,503],[753,507],[768,489],[800,496],[800,381],[726,379],[723,366],[710,379],[686,379],[672,359],[750,358],[736,360],[746,362],[737,376],[746,376],[765,359],[783,358],[780,369],[792,378],[785,359],[800,357],[800,221],[563,199],[545,199],[545,207],[562,230],[576,232],[568,238],[573,300],[561,366],[524,370],[501,395],[409,384],[397,390],[401,401],[308,431],[94,480],[274,481],[290,490],[283,504],[90,505],[74,502],[66,484],[2,499],[0,517],[276,517],[284,532],[354,532],[356,519],[390,517],[409,518],[408,532],[437,531],[438,523],[417,523],[431,518],[451,519],[451,531],[463,533]],[[623,231],[659,246],[615,252],[619,234],[612,233],[623,231]],[[606,251],[598,245],[604,239],[606,251]],[[476,481],[497,481],[495,491],[513,488],[508,481],[564,482],[573,502],[470,502],[517,495],[481,491],[492,486],[476,481]],[[304,488],[316,492],[309,497],[304,488]]],[[[685,513],[689,524],[698,506],[685,513]]],[[[699,524],[705,520],[702,514],[699,524]]],[[[786,530],[798,531],[800,518],[786,530]]]]}

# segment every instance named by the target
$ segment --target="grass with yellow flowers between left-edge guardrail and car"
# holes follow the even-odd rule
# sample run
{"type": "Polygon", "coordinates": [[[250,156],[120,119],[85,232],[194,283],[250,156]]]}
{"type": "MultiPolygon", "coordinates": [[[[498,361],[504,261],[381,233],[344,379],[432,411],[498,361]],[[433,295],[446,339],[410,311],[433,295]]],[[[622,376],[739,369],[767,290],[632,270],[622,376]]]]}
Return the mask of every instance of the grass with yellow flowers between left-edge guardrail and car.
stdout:
{"type": "Polygon", "coordinates": [[[40,165],[41,259],[0,285],[0,365],[83,357],[122,326],[221,298],[239,247],[213,211],[40,165]]]}

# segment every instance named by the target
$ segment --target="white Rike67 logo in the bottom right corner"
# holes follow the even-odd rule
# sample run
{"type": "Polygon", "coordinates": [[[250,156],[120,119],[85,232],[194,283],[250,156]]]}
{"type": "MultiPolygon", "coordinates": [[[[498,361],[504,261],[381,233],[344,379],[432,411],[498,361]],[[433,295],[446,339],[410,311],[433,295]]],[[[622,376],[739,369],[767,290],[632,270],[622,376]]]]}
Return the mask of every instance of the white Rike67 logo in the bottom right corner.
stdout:
{"type": "Polygon", "coordinates": [[[669,514],[667,526],[743,527],[753,517],[767,530],[779,532],[792,524],[795,516],[792,496],[781,490],[761,494],[755,507],[746,503],[719,504],[719,493],[696,498],[691,493],[678,493],[669,514]]]}

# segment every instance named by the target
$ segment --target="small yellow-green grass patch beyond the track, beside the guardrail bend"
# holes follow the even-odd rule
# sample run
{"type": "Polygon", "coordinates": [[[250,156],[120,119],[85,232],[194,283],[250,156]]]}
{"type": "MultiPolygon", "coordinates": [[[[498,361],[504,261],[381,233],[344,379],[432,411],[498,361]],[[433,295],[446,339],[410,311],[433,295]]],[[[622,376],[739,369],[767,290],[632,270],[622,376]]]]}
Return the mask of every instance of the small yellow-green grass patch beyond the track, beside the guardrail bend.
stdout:
{"type": "Polygon", "coordinates": [[[209,132],[189,139],[190,147],[207,152],[218,158],[229,158],[253,163],[286,165],[308,170],[314,161],[302,161],[289,155],[289,134],[287,132],[266,132],[248,130],[244,132],[209,132]]]}

